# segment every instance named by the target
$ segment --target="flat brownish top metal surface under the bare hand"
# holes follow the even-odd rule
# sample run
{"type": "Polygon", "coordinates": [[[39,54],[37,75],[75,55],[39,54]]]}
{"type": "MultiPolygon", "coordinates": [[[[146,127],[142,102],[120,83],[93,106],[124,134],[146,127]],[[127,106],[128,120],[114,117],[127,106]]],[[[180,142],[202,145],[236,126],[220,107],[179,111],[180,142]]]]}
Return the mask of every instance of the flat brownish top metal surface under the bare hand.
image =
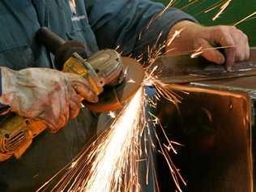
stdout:
{"type": "Polygon", "coordinates": [[[224,65],[215,65],[203,58],[160,57],[155,65],[159,66],[161,80],[165,83],[190,83],[215,79],[233,79],[256,75],[256,48],[250,49],[248,61],[237,62],[232,71],[227,71],[224,65]]]}

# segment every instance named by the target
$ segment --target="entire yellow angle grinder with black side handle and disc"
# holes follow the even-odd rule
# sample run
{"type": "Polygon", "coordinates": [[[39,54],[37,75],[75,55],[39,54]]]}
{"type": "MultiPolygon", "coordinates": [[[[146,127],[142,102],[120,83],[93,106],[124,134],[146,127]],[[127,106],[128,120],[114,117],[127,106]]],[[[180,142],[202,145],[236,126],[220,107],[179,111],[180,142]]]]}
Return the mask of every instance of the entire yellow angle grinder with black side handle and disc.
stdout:
{"type": "MultiPolygon", "coordinates": [[[[99,96],[99,102],[83,101],[88,109],[96,112],[122,108],[144,78],[143,67],[132,58],[122,58],[113,49],[101,50],[87,58],[86,48],[79,41],[64,41],[49,28],[40,28],[36,40],[54,56],[54,67],[63,72],[82,75],[99,96]]],[[[2,118],[0,126],[0,161],[11,156],[19,159],[38,134],[50,130],[44,122],[20,117],[15,113],[2,118]]],[[[58,130],[50,130],[53,133],[58,130]]]]}

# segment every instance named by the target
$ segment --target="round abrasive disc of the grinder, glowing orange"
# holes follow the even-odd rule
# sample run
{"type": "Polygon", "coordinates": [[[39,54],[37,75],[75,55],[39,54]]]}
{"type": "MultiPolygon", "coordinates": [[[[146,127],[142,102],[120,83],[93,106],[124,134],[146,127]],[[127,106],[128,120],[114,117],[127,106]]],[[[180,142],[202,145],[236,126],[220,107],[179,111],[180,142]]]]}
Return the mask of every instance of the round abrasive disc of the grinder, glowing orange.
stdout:
{"type": "Polygon", "coordinates": [[[99,102],[83,102],[88,109],[96,112],[115,111],[122,108],[127,100],[139,90],[144,79],[143,66],[132,58],[122,58],[125,66],[125,79],[116,86],[105,86],[100,93],[99,102]]]}

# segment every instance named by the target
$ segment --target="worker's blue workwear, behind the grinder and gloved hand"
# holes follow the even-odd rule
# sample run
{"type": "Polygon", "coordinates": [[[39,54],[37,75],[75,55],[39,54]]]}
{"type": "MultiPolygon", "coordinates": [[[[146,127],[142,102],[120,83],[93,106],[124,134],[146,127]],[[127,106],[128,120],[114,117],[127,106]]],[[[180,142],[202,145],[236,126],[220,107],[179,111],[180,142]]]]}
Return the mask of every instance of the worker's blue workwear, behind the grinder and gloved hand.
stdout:
{"type": "MultiPolygon", "coordinates": [[[[99,49],[116,48],[134,56],[167,38],[174,23],[190,15],[148,0],[1,0],[0,66],[13,70],[53,68],[53,56],[35,41],[48,27],[66,40],[84,43],[87,57],[99,49]],[[139,38],[139,34],[142,34],[139,38]]],[[[98,115],[83,109],[57,134],[45,131],[19,159],[0,163],[0,191],[33,191],[74,158],[96,132],[98,115]]]]}

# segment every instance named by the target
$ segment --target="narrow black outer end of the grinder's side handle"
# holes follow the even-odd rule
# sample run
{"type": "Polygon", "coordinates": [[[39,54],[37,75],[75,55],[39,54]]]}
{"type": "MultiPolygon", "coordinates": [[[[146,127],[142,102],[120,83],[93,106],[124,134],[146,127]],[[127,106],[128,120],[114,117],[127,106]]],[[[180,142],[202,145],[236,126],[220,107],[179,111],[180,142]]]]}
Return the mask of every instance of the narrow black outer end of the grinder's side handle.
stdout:
{"type": "Polygon", "coordinates": [[[45,48],[54,55],[57,53],[61,45],[65,44],[65,40],[57,34],[51,32],[49,28],[40,28],[36,32],[36,39],[45,45],[45,48]]]}

